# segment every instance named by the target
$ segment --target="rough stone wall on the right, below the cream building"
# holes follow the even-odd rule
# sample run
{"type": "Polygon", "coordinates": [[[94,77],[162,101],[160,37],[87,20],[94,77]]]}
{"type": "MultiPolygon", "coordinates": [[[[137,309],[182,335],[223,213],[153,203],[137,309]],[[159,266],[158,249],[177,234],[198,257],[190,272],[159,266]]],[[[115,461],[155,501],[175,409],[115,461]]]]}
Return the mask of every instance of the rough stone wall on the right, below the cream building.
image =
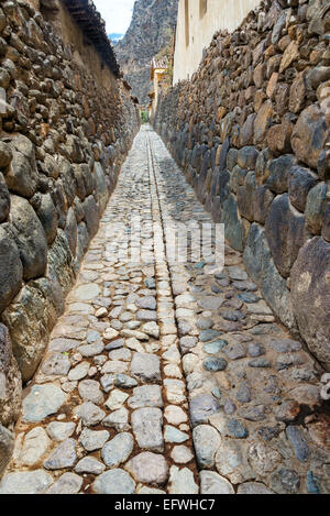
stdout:
{"type": "Polygon", "coordinates": [[[330,369],[330,4],[217,33],[154,125],[275,315],[330,369]]]}

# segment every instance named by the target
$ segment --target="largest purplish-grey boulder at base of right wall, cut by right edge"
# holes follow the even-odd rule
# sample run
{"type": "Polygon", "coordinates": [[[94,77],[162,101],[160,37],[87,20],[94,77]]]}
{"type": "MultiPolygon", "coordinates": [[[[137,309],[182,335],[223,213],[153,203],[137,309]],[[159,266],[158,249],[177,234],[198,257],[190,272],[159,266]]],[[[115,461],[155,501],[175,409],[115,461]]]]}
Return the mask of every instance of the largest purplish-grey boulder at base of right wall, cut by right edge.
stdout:
{"type": "Polygon", "coordinates": [[[330,244],[314,238],[292,271],[292,298],[301,337],[330,371],[330,244]]]}

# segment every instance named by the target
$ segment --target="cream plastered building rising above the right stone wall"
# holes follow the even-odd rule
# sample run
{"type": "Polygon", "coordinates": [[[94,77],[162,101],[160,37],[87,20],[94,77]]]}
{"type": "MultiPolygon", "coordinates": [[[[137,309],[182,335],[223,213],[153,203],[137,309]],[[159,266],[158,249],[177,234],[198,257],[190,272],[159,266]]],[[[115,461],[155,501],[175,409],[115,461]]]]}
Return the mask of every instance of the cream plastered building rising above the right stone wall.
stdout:
{"type": "Polygon", "coordinates": [[[234,31],[261,0],[179,0],[173,84],[191,78],[217,31],[234,31]]]}

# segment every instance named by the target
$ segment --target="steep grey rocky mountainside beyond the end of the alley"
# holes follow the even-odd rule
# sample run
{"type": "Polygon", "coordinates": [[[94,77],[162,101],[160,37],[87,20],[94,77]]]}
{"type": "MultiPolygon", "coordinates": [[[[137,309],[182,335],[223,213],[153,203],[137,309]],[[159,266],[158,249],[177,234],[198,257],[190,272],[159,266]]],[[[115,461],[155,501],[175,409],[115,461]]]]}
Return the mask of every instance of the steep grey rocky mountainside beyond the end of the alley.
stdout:
{"type": "Polygon", "coordinates": [[[131,25],[116,45],[116,54],[132,92],[148,103],[150,64],[168,46],[176,26],[178,0],[136,0],[131,25]]]}

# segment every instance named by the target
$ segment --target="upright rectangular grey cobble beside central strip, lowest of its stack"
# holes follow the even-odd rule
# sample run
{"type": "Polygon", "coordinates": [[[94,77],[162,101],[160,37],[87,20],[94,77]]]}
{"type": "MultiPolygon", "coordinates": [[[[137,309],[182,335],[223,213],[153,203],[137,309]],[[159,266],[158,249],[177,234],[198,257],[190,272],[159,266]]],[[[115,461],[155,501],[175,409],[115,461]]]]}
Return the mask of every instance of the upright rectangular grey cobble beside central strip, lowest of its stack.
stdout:
{"type": "Polygon", "coordinates": [[[163,452],[163,414],[160,408],[139,408],[132,414],[132,428],[140,448],[163,452]]]}

